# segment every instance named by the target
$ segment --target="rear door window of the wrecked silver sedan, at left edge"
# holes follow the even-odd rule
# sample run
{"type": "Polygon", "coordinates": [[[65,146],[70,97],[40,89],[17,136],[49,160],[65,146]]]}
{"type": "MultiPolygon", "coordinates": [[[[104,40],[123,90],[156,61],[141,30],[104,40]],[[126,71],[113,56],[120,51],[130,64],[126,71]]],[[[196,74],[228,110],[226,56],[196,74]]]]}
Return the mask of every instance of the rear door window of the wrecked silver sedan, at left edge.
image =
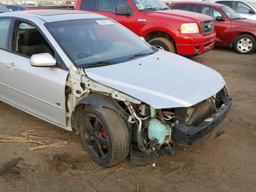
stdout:
{"type": "Polygon", "coordinates": [[[11,19],[0,19],[0,48],[6,49],[8,29],[10,27],[11,19]]]}

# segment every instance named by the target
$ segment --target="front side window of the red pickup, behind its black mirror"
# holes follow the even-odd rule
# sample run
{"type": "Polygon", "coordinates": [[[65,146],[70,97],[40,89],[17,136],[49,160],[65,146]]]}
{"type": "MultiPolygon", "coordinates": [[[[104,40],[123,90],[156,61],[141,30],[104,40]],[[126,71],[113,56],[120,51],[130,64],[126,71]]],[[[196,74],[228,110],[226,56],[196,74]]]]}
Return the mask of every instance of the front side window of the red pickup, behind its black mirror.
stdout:
{"type": "Polygon", "coordinates": [[[99,11],[116,12],[116,6],[124,5],[127,10],[132,10],[132,7],[126,0],[100,0],[99,11]]]}

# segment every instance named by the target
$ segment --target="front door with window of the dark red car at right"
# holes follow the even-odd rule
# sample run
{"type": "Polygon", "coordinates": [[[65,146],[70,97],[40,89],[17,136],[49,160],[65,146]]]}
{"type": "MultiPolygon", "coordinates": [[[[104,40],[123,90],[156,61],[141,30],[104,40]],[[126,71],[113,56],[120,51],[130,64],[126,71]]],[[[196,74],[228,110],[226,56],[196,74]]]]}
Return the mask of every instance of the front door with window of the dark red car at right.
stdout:
{"type": "Polygon", "coordinates": [[[214,30],[216,31],[215,45],[228,46],[231,30],[231,21],[217,9],[209,6],[202,6],[202,14],[211,16],[214,20],[214,30]],[[220,16],[224,21],[216,20],[220,16]]]}

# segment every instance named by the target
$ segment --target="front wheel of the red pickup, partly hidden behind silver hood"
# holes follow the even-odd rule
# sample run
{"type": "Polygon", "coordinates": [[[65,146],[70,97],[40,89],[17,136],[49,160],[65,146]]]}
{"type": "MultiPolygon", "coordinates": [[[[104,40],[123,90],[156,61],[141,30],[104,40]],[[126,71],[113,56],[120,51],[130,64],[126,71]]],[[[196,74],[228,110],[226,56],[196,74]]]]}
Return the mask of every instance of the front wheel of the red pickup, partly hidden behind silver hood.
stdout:
{"type": "Polygon", "coordinates": [[[155,46],[158,49],[166,50],[172,53],[176,53],[176,49],[172,42],[166,38],[158,37],[148,42],[150,45],[155,46]]]}

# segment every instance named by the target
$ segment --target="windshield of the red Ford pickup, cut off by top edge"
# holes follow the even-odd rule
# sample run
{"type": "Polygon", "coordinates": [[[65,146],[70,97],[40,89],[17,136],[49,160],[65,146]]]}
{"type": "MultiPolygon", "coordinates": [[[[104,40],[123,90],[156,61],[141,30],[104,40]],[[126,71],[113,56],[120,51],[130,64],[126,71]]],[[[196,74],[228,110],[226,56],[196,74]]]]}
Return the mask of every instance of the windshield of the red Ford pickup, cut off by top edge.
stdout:
{"type": "Polygon", "coordinates": [[[161,0],[132,0],[138,10],[167,10],[170,9],[161,0]]]}

